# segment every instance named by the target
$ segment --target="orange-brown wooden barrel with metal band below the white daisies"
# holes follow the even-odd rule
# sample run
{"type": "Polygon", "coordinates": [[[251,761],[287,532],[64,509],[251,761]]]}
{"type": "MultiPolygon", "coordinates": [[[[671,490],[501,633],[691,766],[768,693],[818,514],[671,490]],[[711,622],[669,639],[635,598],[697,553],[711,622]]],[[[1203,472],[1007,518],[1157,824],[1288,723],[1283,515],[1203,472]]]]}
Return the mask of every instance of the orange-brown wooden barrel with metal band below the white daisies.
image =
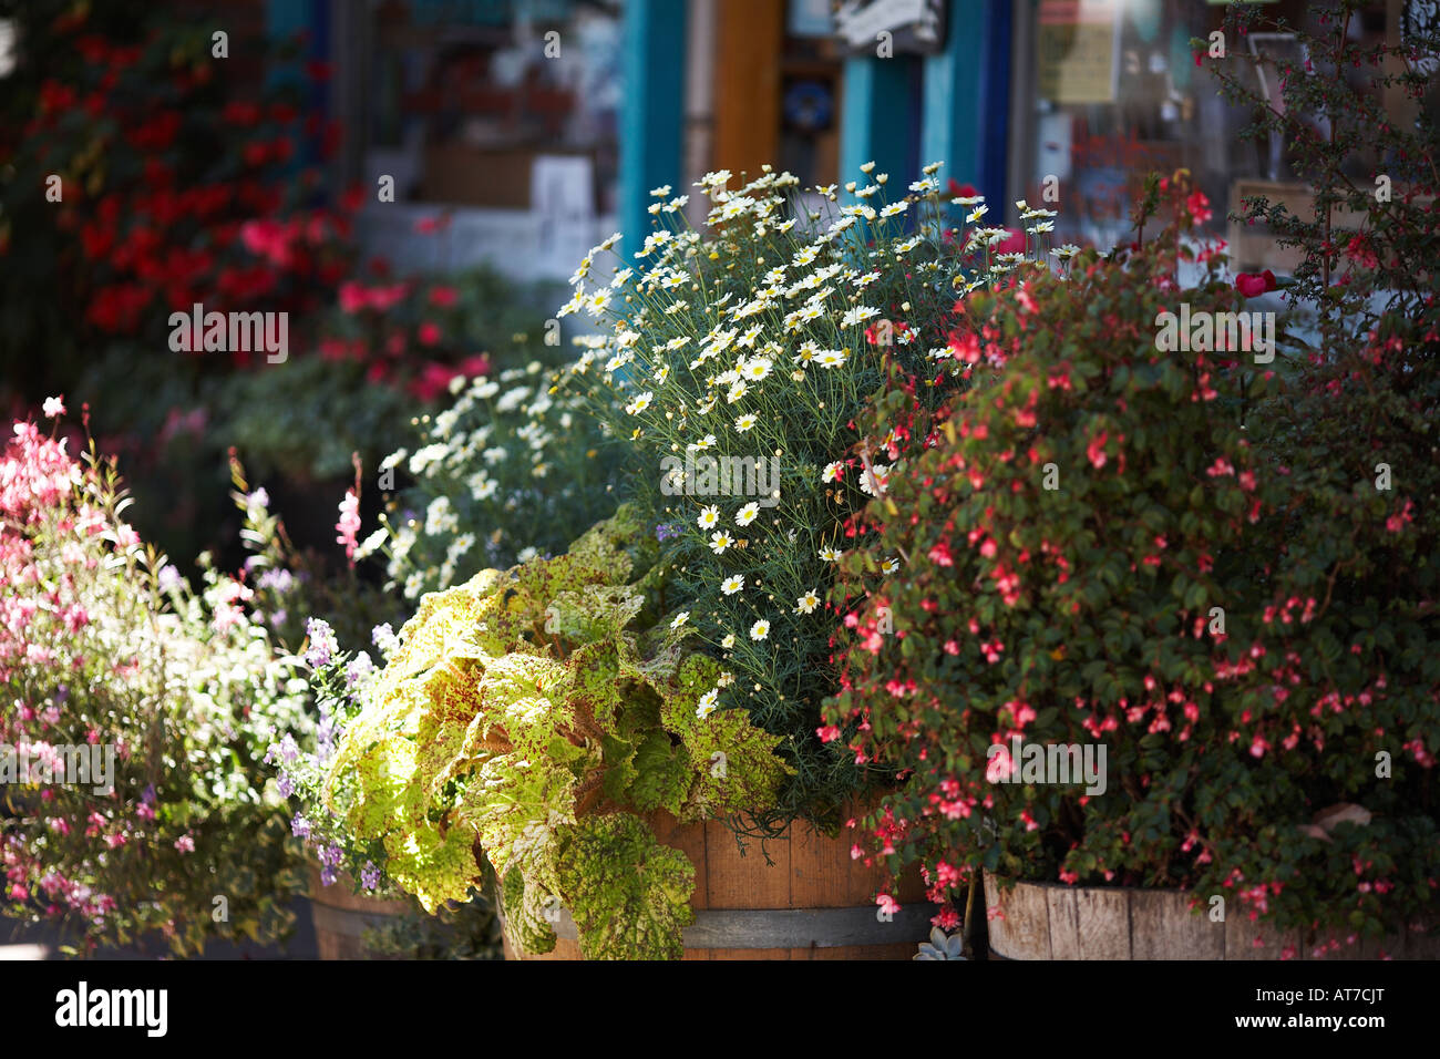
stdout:
{"type": "MultiPolygon", "coordinates": [[[[845,834],[828,839],[799,824],[766,844],[775,862],[766,864],[757,840],[747,840],[742,857],[720,821],[678,824],[657,814],[649,823],[696,866],[685,960],[910,960],[929,937],[935,906],[919,875],[899,888],[900,911],[881,921],[874,895],[888,876],[851,860],[845,834]]],[[[569,911],[560,911],[554,932],[553,951],[531,954],[507,931],[505,958],[580,960],[569,911]]]]}

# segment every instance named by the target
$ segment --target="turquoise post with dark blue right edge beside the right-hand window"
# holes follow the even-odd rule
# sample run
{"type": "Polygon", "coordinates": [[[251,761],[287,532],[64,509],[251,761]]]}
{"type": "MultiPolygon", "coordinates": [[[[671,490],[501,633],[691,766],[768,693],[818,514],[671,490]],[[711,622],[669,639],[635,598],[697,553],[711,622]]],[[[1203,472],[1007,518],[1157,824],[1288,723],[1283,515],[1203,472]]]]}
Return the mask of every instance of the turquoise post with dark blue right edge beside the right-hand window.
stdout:
{"type": "Polygon", "coordinates": [[[949,0],[945,50],[924,59],[920,158],[943,161],[940,177],[973,184],[999,223],[1009,127],[1009,3],[949,0]]]}

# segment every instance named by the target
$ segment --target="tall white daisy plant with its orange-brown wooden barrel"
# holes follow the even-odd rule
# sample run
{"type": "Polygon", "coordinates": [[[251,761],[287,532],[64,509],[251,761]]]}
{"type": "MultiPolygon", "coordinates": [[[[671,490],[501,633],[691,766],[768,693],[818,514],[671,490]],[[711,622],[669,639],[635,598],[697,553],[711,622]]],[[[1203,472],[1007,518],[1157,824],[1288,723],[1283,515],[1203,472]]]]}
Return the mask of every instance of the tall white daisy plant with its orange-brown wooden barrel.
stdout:
{"type": "MultiPolygon", "coordinates": [[[[822,948],[844,954],[848,947],[842,942],[848,939],[871,954],[877,951],[874,945],[893,945],[891,955],[912,955],[914,941],[926,932],[929,911],[923,905],[901,909],[897,901],[920,898],[917,880],[907,880],[900,889],[881,888],[873,864],[855,862],[844,840],[829,837],[834,826],[855,811],[857,798],[864,804],[871,797],[867,784],[884,781],[883,772],[867,772],[864,761],[837,754],[815,735],[818,702],[831,690],[832,680],[825,666],[829,633],[821,608],[831,559],[838,555],[844,514],[874,491],[887,470],[881,463],[847,461],[851,419],[868,392],[880,385],[888,362],[930,367],[927,401],[937,401],[946,388],[960,382],[958,366],[936,365],[943,352],[945,317],[956,291],[994,282],[1027,259],[1028,243],[1041,248],[1044,218],[1050,216],[1047,210],[1027,207],[1032,231],[1020,238],[1018,249],[1002,248],[999,243],[1018,233],[982,228],[985,207],[978,197],[942,202],[936,169],[927,167],[923,180],[897,196],[896,203],[886,205],[883,189],[888,177],[883,173],[871,177],[873,166],[865,166],[871,183],[850,184],[851,203],[828,216],[792,215],[793,179],[788,174],[766,167],[739,190],[727,186],[729,174],[711,174],[701,182],[711,200],[707,236],[681,222],[684,196],[670,197],[668,189],[657,189],[660,200],[652,209],[657,229],[636,254],[649,258],[645,271],[621,268],[595,287],[595,274],[606,267],[605,254],[615,243],[606,241],[576,269],[575,295],[562,308],[562,316],[585,308],[605,318],[612,336],[577,340],[585,347],[580,359],[552,377],[549,393],[531,395],[523,389],[518,399],[524,415],[553,415],[557,406],[573,406],[579,395],[603,431],[596,448],[608,451],[616,441],[628,439],[624,470],[632,507],[625,519],[649,527],[644,535],[645,550],[654,558],[645,566],[664,575],[661,581],[654,581],[661,578],[658,573],[647,576],[657,589],[662,588],[665,614],[674,615],[672,620],[683,615],[684,628],[693,630],[690,643],[706,651],[684,664],[724,666],[730,673],[726,686],[708,690],[716,692],[713,697],[720,706],[740,707],[726,713],[727,718],[736,713],[727,723],[739,725],[749,718],[746,723],[755,733],[769,733],[783,762],[773,772],[773,790],[763,797],[755,790],[752,797],[688,807],[678,814],[678,827],[674,807],[639,807],[654,810],[647,818],[652,831],[684,849],[703,880],[691,896],[697,921],[683,937],[685,945],[707,948],[710,954],[734,949],[814,954],[822,948]],[[953,213],[956,205],[959,216],[953,213]],[[968,226],[963,236],[960,229],[949,226],[960,216],[968,226]],[[910,218],[916,218],[913,223],[910,218]],[[736,467],[743,468],[739,477],[733,474],[736,467]],[[701,826],[698,817],[707,816],[732,817],[726,824],[742,834],[783,836],[786,841],[765,844],[762,867],[759,859],[726,854],[734,841],[719,820],[701,826]],[[685,818],[694,823],[685,824],[685,818]],[[789,830],[796,818],[804,818],[805,828],[789,830]],[[772,854],[783,863],[772,866],[772,854]],[[744,870],[743,882],[734,869],[744,870]],[[792,885],[796,877],[805,882],[792,885]],[[827,911],[828,926],[821,934],[804,925],[816,919],[806,909],[818,905],[835,906],[827,911]],[[783,915],[769,916],[759,931],[750,931],[757,921],[739,915],[766,908],[783,915]]],[[[819,190],[827,209],[840,202],[837,189],[819,190]]],[[[465,435],[456,429],[454,416],[444,425],[436,421],[435,432],[439,437],[433,444],[410,457],[410,470],[429,475],[431,468],[444,467],[446,478],[468,481],[475,474],[471,467],[477,464],[478,447],[461,444],[465,435]]],[[[477,477],[488,480],[492,473],[477,477]]],[[[465,562],[456,560],[452,548],[461,543],[468,526],[458,517],[438,517],[431,507],[441,506],[444,516],[452,513],[455,501],[449,491],[428,488],[433,496],[428,500],[423,535],[416,509],[402,524],[392,523],[386,543],[392,565],[399,560],[403,569],[422,536],[436,537],[431,553],[438,553],[448,535],[454,536],[455,545],[445,549],[446,562],[439,568],[444,584],[465,562]]],[[[524,496],[523,490],[514,494],[521,507],[524,496]]],[[[497,540],[505,523],[504,516],[497,519],[497,540]]],[[[461,553],[467,552],[468,548],[461,553]]],[[[516,576],[533,576],[526,571],[537,562],[543,568],[546,560],[531,558],[516,576]]],[[[428,569],[426,576],[433,578],[433,560],[428,569]]],[[[494,585],[471,582],[467,591],[478,594],[477,599],[488,598],[494,585]]],[[[539,592],[527,604],[528,621],[539,621],[553,602],[544,595],[539,592]]],[[[475,605],[480,604],[464,604],[475,605]]],[[[657,605],[658,601],[647,602],[648,608],[657,605]]],[[[422,604],[415,621],[426,614],[428,605],[422,604]]],[[[642,621],[654,620],[649,609],[645,615],[642,621]]],[[[641,638],[652,635],[645,625],[636,628],[641,638]]],[[[559,651],[563,658],[572,650],[595,648],[554,641],[547,650],[559,651]]],[[[698,699],[707,693],[688,684],[684,692],[639,690],[641,697],[662,699],[691,693],[698,699]]],[[[678,718],[664,723],[678,725],[678,718]]],[[[670,730],[672,738],[684,738],[680,729],[670,730]]],[[[373,739],[374,733],[357,738],[373,739]]],[[[596,739],[603,746],[596,732],[572,730],[566,742],[588,746],[596,739]]],[[[341,764],[354,767],[348,759],[341,764]]],[[[557,764],[564,762],[550,762],[557,764]]],[[[733,762],[729,768],[733,769],[733,762]]],[[[409,774],[409,767],[400,771],[409,774]]],[[[698,775],[694,782],[706,785],[698,775]]],[[[418,833],[416,828],[418,823],[406,833],[418,833]]],[[[504,839],[487,840],[484,833],[480,839],[491,860],[498,850],[500,866],[510,863],[504,839]]],[[[432,836],[431,841],[435,840],[432,836]]],[[[448,833],[446,840],[451,840],[448,833]]],[[[458,850],[459,839],[454,841],[458,850]]],[[[420,841],[419,849],[428,844],[420,841]]],[[[452,850],[451,856],[458,853],[452,850]]],[[[678,862],[675,866],[680,870],[678,862]]],[[[501,876],[507,886],[518,885],[508,867],[501,876]]],[[[573,909],[543,879],[531,882],[540,885],[540,898],[526,898],[528,886],[523,893],[505,892],[511,941],[533,926],[541,948],[549,948],[547,931],[559,928],[562,937],[553,951],[579,951],[576,934],[583,948],[585,931],[572,928],[567,919],[573,909]],[[547,906],[550,898],[557,903],[547,906]],[[517,901],[528,902],[528,919],[516,918],[517,901]],[[553,924],[543,915],[536,919],[546,908],[556,916],[553,924]]],[[[567,886],[575,889],[575,883],[567,886]]],[[[675,924],[684,918],[677,906],[675,924]]],[[[678,954],[681,935],[668,926],[665,937],[667,949],[647,951],[678,954]]],[[[589,944],[595,954],[621,952],[599,941],[589,944]]],[[[524,948],[513,945],[516,951],[524,948]]]]}

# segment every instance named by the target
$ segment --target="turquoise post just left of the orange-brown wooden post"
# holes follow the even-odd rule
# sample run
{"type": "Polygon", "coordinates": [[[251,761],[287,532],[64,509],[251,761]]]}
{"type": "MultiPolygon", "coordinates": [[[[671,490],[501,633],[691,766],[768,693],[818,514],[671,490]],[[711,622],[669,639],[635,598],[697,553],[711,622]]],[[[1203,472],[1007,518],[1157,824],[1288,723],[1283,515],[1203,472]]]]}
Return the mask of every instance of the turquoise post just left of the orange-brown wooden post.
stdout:
{"type": "Polygon", "coordinates": [[[685,9],[683,0],[625,0],[619,114],[619,254],[634,261],[649,232],[649,189],[685,195],[685,9]]]}

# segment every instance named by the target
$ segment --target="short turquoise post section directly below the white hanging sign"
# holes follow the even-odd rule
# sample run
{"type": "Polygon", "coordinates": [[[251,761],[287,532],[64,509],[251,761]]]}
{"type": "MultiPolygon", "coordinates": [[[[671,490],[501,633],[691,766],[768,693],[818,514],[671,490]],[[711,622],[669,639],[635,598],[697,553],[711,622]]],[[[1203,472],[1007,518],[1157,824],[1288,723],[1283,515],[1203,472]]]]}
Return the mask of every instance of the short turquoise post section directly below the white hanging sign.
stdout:
{"type": "MultiPolygon", "coordinates": [[[[909,183],[912,56],[880,59],[876,55],[845,59],[845,89],[840,125],[840,183],[864,182],[860,167],[876,163],[876,173],[909,183]]],[[[904,184],[900,184],[903,189],[904,184]]]]}

